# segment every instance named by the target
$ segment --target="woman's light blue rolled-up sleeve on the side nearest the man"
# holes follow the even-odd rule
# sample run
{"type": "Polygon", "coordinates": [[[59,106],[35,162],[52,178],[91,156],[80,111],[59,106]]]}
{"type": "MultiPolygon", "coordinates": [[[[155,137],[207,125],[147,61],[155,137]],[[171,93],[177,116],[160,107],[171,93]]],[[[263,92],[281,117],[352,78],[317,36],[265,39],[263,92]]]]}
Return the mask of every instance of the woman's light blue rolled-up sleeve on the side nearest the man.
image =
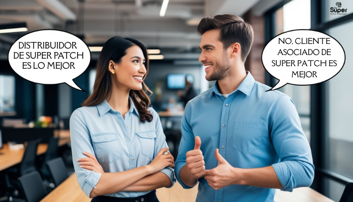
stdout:
{"type": "MultiPolygon", "coordinates": [[[[154,155],[153,155],[153,158],[155,158],[156,155],[158,154],[158,151],[162,148],[168,147],[168,145],[165,141],[165,135],[163,132],[162,125],[160,123],[159,116],[154,110],[153,110],[153,119],[155,119],[155,127],[156,127],[156,140],[154,142],[154,149],[155,150],[154,150],[154,155]]],[[[166,188],[172,187],[175,183],[174,169],[172,169],[168,166],[168,167],[162,169],[160,172],[166,174],[171,181],[171,186],[166,187],[166,188]]]]}

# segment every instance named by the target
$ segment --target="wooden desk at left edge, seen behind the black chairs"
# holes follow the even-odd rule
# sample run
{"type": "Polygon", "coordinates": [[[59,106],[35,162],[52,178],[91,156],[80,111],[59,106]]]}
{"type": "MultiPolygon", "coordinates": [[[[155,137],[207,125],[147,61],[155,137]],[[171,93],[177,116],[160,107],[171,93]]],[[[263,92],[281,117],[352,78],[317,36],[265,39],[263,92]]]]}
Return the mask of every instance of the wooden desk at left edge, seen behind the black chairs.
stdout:
{"type": "MultiPolygon", "coordinates": [[[[61,138],[59,139],[58,145],[62,146],[70,142],[70,138],[61,138]]],[[[10,168],[16,164],[21,163],[25,149],[20,150],[9,150],[8,144],[4,144],[4,147],[0,149],[0,171],[10,168]]],[[[48,144],[38,144],[37,155],[44,154],[48,144]]]]}

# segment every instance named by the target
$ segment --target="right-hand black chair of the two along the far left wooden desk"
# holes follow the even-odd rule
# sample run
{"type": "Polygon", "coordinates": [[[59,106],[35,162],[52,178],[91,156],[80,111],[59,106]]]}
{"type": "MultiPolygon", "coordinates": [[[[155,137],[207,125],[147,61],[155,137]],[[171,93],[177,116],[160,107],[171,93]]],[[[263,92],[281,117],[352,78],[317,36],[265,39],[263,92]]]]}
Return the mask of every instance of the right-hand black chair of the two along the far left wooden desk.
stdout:
{"type": "Polygon", "coordinates": [[[48,148],[46,150],[46,153],[44,155],[44,158],[40,167],[40,173],[43,178],[50,178],[50,172],[46,166],[46,163],[48,163],[50,160],[57,157],[58,141],[59,141],[59,138],[54,138],[54,137],[51,137],[49,140],[48,148]]]}

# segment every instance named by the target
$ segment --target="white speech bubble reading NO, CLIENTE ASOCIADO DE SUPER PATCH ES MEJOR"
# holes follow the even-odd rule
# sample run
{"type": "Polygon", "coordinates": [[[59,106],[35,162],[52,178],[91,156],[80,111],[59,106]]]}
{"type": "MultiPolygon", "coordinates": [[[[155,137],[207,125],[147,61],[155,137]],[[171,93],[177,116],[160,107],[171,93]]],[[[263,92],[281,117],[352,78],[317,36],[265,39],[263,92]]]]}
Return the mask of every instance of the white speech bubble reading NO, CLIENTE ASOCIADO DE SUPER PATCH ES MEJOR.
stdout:
{"type": "Polygon", "coordinates": [[[266,71],[279,80],[269,89],[275,90],[286,84],[312,85],[333,78],[343,68],[345,53],[332,36],[298,29],[269,41],[261,59],[266,71]]]}

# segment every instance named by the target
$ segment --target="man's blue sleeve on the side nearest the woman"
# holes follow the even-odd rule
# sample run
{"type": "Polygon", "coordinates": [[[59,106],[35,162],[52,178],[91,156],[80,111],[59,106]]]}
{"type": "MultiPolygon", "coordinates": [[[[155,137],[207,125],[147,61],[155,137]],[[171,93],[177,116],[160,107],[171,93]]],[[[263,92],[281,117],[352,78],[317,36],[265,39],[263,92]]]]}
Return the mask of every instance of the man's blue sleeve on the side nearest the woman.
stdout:
{"type": "Polygon", "coordinates": [[[178,182],[185,189],[190,189],[192,187],[189,187],[182,182],[182,180],[180,179],[179,173],[180,173],[180,170],[186,165],[186,153],[190,150],[193,150],[195,145],[194,133],[192,131],[190,122],[188,120],[188,115],[189,115],[188,106],[189,104],[186,105],[185,111],[184,111],[184,116],[182,121],[182,140],[180,141],[178,158],[177,158],[177,161],[175,161],[175,177],[177,177],[178,182]]]}

